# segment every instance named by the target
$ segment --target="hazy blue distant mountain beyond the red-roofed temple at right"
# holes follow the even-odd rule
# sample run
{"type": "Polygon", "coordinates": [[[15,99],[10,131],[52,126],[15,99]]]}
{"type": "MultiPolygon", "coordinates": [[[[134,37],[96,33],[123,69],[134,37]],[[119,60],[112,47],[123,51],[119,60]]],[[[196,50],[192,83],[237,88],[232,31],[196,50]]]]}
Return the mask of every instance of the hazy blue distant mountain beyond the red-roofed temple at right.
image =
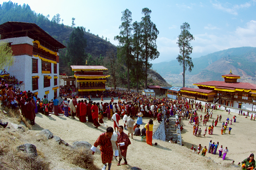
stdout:
{"type": "MultiPolygon", "coordinates": [[[[239,47],[229,48],[223,51],[217,51],[199,58],[192,59],[194,68],[192,72],[186,71],[187,85],[195,82],[220,80],[221,75],[228,74],[230,69],[233,74],[241,76],[239,81],[248,82],[251,79],[253,83],[256,79],[256,48],[239,47]]],[[[181,75],[183,68],[177,60],[170,62],[160,62],[152,64],[152,69],[156,70],[162,77],[167,79],[169,84],[175,85],[174,75],[181,75]]],[[[180,78],[180,77],[179,77],[180,78]]]]}

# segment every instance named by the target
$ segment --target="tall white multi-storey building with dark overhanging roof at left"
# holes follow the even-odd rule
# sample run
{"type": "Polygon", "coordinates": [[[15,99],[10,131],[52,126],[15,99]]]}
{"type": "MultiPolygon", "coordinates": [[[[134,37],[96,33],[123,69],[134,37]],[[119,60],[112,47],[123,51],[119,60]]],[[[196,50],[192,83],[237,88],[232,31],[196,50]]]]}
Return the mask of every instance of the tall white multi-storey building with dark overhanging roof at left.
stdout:
{"type": "Polygon", "coordinates": [[[0,41],[8,42],[14,64],[10,75],[23,81],[22,91],[32,91],[37,97],[59,96],[59,53],[66,48],[35,23],[6,22],[0,25],[0,41]]]}

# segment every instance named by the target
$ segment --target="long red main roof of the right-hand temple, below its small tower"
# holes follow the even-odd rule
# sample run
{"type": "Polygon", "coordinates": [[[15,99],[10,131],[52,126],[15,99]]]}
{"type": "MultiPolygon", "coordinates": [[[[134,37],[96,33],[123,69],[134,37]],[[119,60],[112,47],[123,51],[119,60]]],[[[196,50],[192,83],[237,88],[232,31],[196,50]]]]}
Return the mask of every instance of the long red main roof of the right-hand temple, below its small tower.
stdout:
{"type": "MultiPolygon", "coordinates": [[[[256,85],[249,82],[233,82],[227,83],[222,81],[209,81],[209,82],[199,82],[195,85],[209,85],[209,86],[220,86],[224,88],[241,88],[241,89],[254,89],[256,90],[256,85]]],[[[219,87],[218,87],[219,88],[219,87]]]]}

